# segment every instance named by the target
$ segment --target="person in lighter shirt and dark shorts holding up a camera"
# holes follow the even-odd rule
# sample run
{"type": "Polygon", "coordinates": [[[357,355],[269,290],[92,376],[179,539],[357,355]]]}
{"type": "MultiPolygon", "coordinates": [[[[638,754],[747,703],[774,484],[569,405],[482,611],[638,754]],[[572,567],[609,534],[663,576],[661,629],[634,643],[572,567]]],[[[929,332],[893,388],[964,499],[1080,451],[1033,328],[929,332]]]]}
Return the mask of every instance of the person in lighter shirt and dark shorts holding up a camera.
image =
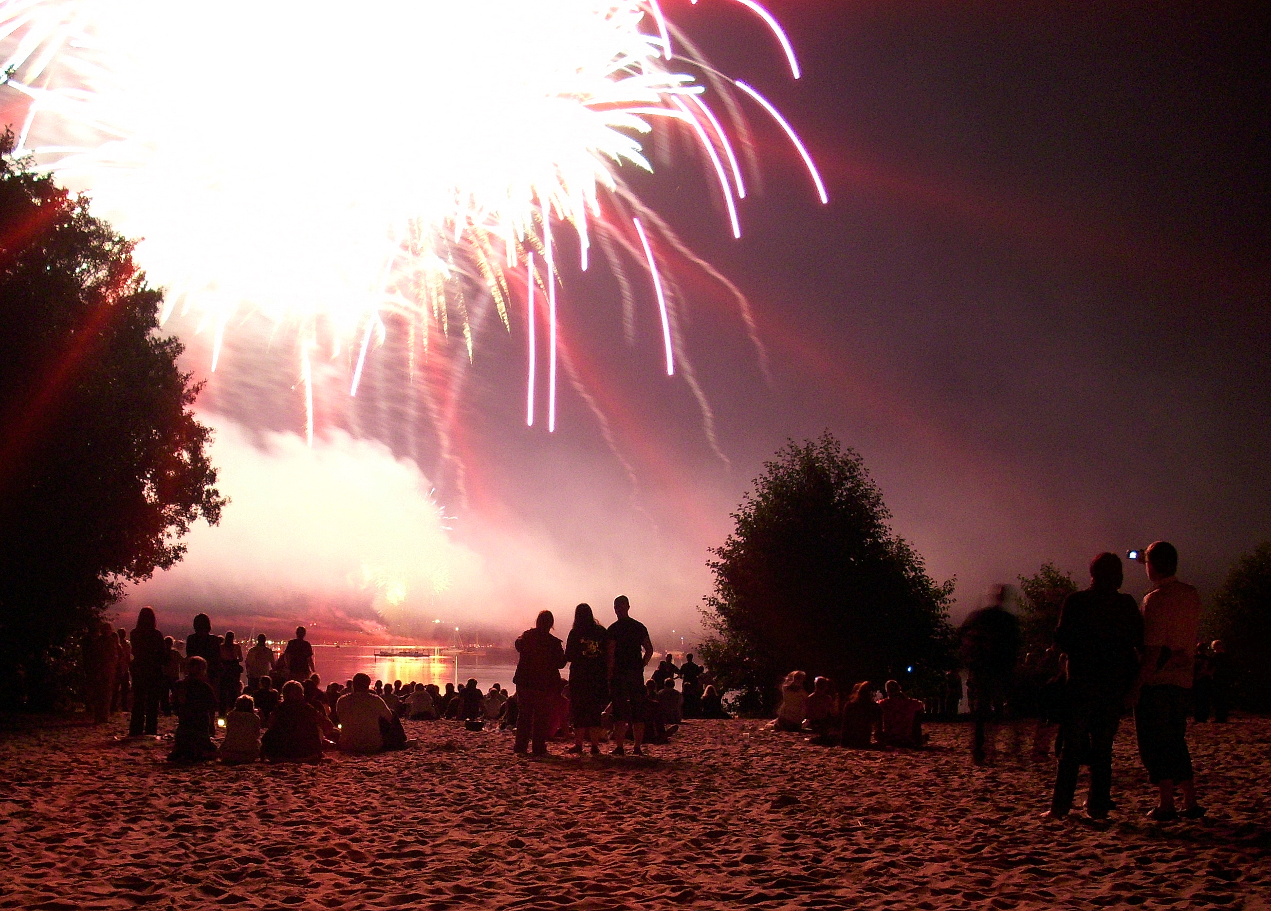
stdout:
{"type": "Polygon", "coordinates": [[[1200,626],[1200,595],[1179,582],[1178,551],[1168,541],[1148,546],[1148,578],[1157,587],[1143,596],[1143,666],[1134,727],[1139,756],[1159,803],[1149,820],[1169,822],[1179,816],[1199,820],[1191,753],[1187,751],[1187,709],[1192,684],[1192,649],[1200,626]],[[1174,786],[1183,793],[1183,809],[1174,808],[1174,786]]]}

